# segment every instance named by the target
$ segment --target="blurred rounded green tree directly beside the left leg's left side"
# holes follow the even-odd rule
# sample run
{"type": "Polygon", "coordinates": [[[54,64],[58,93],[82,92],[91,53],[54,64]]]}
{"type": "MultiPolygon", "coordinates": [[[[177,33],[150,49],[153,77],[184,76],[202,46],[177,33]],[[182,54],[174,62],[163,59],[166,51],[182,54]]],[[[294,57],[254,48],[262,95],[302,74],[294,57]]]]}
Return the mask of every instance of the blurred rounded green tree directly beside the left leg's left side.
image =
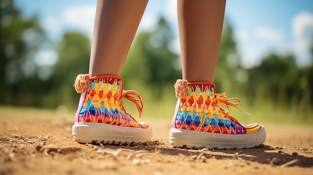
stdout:
{"type": "Polygon", "coordinates": [[[65,32],[57,43],[58,60],[50,81],[53,89],[46,102],[50,107],[66,105],[70,109],[77,107],[79,94],[73,88],[78,74],[88,73],[90,40],[79,32],[65,32]],[[51,103],[53,102],[53,103],[51,103]],[[51,106],[52,105],[52,106],[51,106]]]}

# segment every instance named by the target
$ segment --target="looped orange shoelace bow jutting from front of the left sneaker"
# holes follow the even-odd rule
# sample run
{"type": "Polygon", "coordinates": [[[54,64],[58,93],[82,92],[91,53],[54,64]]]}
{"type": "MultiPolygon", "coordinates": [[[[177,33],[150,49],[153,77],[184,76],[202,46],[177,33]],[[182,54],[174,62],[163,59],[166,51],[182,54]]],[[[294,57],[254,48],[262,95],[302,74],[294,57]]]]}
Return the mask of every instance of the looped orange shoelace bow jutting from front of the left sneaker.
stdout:
{"type": "MultiPolygon", "coordinates": [[[[143,109],[142,100],[143,100],[143,95],[139,94],[137,91],[134,91],[134,90],[128,90],[128,91],[124,91],[123,90],[120,99],[122,97],[125,97],[127,100],[131,101],[137,107],[137,110],[139,112],[139,118],[142,118],[142,109],[143,109]],[[133,97],[133,96],[131,96],[131,95],[138,96],[138,99],[133,97]],[[139,102],[140,105],[137,102],[139,102]]],[[[122,108],[125,111],[124,107],[122,107],[122,108]]],[[[127,113],[127,112],[125,111],[125,113],[127,113]]],[[[127,113],[127,114],[129,115],[129,113],[127,113]]],[[[131,116],[131,115],[129,115],[129,116],[131,116]]]]}

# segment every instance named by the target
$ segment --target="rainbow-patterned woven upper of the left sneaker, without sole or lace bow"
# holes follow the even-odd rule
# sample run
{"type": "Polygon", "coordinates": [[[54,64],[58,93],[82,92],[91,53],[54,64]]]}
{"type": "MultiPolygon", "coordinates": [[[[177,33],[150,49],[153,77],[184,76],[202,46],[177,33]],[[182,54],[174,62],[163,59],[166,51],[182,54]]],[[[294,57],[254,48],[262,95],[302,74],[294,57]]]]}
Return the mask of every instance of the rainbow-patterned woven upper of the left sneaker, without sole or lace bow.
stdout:
{"type": "Polygon", "coordinates": [[[122,106],[121,95],[121,79],[90,79],[88,88],[81,94],[81,108],[80,111],[77,111],[76,122],[96,122],[124,127],[140,127],[125,112],[122,106]]]}

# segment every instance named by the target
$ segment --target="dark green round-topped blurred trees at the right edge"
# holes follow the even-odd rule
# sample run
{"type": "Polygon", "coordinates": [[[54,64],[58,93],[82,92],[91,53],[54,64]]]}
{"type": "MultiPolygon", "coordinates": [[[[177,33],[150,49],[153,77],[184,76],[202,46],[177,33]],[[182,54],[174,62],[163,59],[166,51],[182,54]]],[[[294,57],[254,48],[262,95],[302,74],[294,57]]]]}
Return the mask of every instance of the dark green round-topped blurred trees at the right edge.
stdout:
{"type": "Polygon", "coordinates": [[[312,102],[311,66],[298,67],[294,55],[268,54],[259,66],[248,70],[246,89],[252,99],[269,98],[275,105],[298,107],[312,102]]]}

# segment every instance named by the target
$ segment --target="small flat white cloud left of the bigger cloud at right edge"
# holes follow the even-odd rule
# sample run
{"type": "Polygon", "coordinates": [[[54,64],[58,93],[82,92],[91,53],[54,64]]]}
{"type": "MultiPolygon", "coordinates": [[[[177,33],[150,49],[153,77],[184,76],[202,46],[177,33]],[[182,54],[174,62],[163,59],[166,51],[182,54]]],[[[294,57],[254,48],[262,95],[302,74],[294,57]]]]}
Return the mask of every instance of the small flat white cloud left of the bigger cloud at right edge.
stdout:
{"type": "Polygon", "coordinates": [[[269,28],[266,26],[258,26],[255,28],[255,34],[261,39],[270,42],[280,42],[283,40],[283,33],[278,29],[269,28]]]}

